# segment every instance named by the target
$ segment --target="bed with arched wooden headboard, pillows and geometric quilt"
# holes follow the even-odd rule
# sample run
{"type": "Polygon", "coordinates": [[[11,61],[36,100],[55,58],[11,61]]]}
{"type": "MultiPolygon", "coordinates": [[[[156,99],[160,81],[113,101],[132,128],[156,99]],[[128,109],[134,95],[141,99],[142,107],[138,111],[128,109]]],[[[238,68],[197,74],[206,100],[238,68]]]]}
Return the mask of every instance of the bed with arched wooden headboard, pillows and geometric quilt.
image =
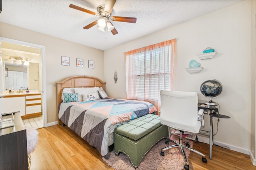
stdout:
{"type": "Polygon", "coordinates": [[[157,111],[150,102],[109,98],[106,82],[93,76],[71,76],[56,85],[58,124],[68,126],[106,159],[117,126],[157,111]]]}

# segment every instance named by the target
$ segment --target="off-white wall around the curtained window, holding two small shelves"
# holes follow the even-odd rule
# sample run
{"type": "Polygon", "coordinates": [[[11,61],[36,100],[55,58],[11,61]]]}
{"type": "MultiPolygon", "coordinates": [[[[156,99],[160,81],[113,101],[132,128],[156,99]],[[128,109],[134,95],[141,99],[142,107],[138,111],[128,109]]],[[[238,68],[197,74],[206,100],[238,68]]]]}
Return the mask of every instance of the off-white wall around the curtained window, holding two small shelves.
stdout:
{"type": "MultiPolygon", "coordinates": [[[[220,114],[231,118],[220,119],[214,141],[248,151],[251,116],[250,9],[250,0],[246,0],[104,51],[107,94],[126,98],[124,52],[178,37],[173,90],[196,91],[199,100],[204,102],[206,99],[200,93],[202,82],[219,80],[224,90],[214,102],[220,104],[220,114]],[[214,48],[217,54],[212,59],[200,60],[196,55],[206,47],[214,48]],[[200,73],[186,72],[185,68],[189,67],[192,59],[204,67],[200,73]],[[115,69],[118,72],[116,84],[113,79],[115,69]]],[[[207,127],[210,117],[206,116],[205,119],[207,127]]],[[[216,132],[216,119],[214,124],[216,132]]]]}

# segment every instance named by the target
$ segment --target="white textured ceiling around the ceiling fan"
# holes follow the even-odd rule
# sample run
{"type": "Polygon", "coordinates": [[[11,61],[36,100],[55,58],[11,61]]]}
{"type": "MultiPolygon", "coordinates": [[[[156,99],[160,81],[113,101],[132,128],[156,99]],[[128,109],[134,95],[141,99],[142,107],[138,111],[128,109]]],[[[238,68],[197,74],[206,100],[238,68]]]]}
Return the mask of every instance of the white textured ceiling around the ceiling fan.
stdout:
{"type": "Polygon", "coordinates": [[[106,50],[203,16],[243,0],[116,0],[112,16],[137,18],[136,23],[112,21],[118,34],[83,29],[97,16],[69,8],[70,4],[97,12],[106,0],[2,0],[0,21],[96,49],[106,50]]]}

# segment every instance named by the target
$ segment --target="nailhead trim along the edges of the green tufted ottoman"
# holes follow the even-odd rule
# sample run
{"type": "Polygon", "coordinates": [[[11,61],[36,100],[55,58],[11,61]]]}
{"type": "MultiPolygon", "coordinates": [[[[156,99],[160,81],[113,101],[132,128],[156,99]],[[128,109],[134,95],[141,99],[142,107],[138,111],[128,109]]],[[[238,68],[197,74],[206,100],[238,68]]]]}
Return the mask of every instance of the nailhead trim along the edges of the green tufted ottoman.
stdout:
{"type": "MultiPolygon", "coordinates": [[[[162,126],[164,126],[164,125],[162,125],[162,126]]],[[[162,127],[162,126],[160,126],[160,127],[162,127]]],[[[134,143],[135,145],[137,145],[138,143],[140,143],[141,141],[143,141],[144,139],[146,139],[147,137],[149,137],[152,133],[155,133],[156,131],[158,131],[158,130],[160,129],[160,127],[158,127],[157,129],[155,129],[154,131],[151,131],[150,133],[148,133],[148,135],[146,135],[144,138],[139,139],[138,142],[135,142],[135,141],[133,141],[133,140],[131,140],[131,139],[128,139],[128,138],[126,138],[126,137],[124,137],[124,136],[122,136],[122,135],[119,135],[119,134],[117,134],[117,133],[115,133],[115,135],[117,135],[117,136],[119,136],[119,137],[122,137],[123,139],[125,139],[125,140],[127,140],[127,141],[129,141],[129,142],[131,142],[131,143],[134,143]]],[[[146,153],[142,156],[142,158],[140,159],[140,162],[142,161],[142,159],[144,158],[144,156],[148,153],[148,151],[149,151],[152,147],[154,147],[154,145],[156,145],[156,143],[158,143],[159,141],[161,141],[161,140],[164,139],[164,138],[167,138],[167,137],[162,137],[161,139],[159,139],[158,141],[156,141],[156,142],[146,151],[146,153]]],[[[131,161],[131,163],[132,163],[132,166],[133,166],[134,168],[137,168],[137,167],[139,166],[140,162],[139,162],[139,164],[138,164],[137,166],[134,166],[134,164],[133,164],[133,162],[132,162],[132,160],[131,160],[131,158],[130,158],[130,155],[129,155],[128,153],[126,153],[124,150],[118,150],[118,152],[115,151],[116,154],[118,154],[119,152],[122,152],[122,153],[126,154],[126,156],[128,156],[128,158],[130,159],[130,161],[131,161]]]]}

